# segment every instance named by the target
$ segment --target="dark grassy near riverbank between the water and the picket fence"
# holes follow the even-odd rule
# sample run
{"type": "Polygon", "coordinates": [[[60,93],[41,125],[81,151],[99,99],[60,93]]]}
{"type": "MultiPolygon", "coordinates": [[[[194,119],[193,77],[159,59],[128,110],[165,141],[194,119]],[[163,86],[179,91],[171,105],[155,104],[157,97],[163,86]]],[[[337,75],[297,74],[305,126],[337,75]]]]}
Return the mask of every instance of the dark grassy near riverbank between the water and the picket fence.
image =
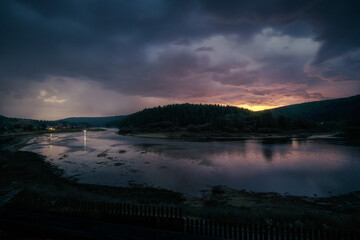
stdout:
{"type": "MultiPolygon", "coordinates": [[[[53,208],[71,201],[129,202],[172,205],[187,215],[236,221],[282,221],[307,225],[350,226],[360,223],[360,193],[329,198],[294,197],[255,193],[213,186],[201,198],[173,191],[135,186],[132,188],[79,184],[31,152],[18,151],[32,135],[12,136],[0,151],[1,194],[14,193],[7,203],[42,199],[53,208]],[[12,146],[12,151],[9,150],[12,146]]],[[[3,144],[1,144],[3,146],[3,144]]]]}

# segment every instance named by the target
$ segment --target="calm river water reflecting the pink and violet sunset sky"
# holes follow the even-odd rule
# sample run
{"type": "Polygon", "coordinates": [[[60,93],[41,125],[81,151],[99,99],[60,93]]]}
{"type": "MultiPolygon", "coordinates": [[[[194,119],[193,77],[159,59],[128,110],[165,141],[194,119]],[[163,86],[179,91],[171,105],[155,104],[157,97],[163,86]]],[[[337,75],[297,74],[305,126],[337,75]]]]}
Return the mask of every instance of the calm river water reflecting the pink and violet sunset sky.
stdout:
{"type": "Polygon", "coordinates": [[[309,196],[360,190],[356,146],[314,139],[194,142],[115,133],[48,134],[22,150],[47,156],[83,183],[138,183],[191,194],[218,184],[309,196]]]}

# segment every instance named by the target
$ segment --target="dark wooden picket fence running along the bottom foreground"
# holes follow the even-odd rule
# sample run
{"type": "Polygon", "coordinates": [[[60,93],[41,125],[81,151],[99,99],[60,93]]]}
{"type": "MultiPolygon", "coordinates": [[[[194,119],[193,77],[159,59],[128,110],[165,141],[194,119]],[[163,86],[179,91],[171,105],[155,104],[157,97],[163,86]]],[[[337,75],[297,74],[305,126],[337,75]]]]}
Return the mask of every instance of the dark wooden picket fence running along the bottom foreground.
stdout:
{"type": "Polygon", "coordinates": [[[115,223],[185,232],[214,239],[237,240],[357,240],[357,231],[311,228],[293,224],[237,223],[183,216],[182,208],[129,203],[67,201],[46,203],[39,199],[17,199],[12,207],[56,214],[101,219],[115,223]]]}

